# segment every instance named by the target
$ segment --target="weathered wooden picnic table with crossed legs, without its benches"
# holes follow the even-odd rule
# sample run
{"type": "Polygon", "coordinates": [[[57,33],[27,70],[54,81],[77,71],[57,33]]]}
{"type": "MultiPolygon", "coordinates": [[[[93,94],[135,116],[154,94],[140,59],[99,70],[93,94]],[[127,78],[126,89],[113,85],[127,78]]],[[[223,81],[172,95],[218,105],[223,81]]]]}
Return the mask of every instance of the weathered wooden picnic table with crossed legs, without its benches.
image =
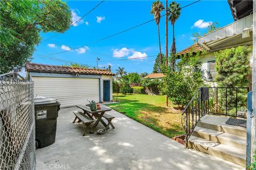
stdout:
{"type": "Polygon", "coordinates": [[[93,131],[95,131],[95,128],[97,127],[99,122],[101,122],[101,124],[103,124],[105,128],[108,127],[108,125],[102,120],[102,117],[106,112],[111,111],[110,108],[101,107],[101,109],[98,109],[97,111],[91,111],[89,106],[76,105],[76,107],[81,108],[84,111],[84,114],[86,114],[90,118],[93,119],[93,116],[94,116],[97,119],[92,127],[93,131]]]}

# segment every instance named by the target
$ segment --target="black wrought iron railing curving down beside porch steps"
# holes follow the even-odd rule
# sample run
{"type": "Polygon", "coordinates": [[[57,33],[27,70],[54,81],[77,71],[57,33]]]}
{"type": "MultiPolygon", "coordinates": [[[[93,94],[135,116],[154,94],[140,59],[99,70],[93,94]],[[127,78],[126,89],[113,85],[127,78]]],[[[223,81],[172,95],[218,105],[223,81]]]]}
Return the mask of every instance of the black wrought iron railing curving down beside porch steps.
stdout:
{"type": "Polygon", "coordinates": [[[182,112],[181,124],[185,130],[185,143],[201,117],[206,114],[246,118],[247,87],[201,87],[182,112]]]}

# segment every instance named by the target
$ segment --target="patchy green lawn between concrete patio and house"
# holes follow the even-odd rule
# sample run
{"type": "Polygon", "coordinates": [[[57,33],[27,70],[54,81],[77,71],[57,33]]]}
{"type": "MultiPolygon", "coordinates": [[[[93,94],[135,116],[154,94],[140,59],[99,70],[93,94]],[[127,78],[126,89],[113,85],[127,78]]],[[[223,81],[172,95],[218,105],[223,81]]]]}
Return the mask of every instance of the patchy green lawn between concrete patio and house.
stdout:
{"type": "MultiPolygon", "coordinates": [[[[116,95],[113,100],[116,100],[116,95]]],[[[169,138],[184,133],[181,111],[171,103],[166,107],[165,96],[118,95],[117,100],[119,103],[108,106],[169,138]]]]}

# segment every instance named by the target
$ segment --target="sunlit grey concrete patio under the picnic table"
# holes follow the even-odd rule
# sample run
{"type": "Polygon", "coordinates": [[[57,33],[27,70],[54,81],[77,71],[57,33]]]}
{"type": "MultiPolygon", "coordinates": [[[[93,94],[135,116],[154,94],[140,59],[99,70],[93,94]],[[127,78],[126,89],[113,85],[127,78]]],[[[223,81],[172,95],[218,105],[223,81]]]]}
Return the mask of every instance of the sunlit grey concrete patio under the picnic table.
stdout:
{"type": "MultiPolygon", "coordinates": [[[[151,130],[116,111],[105,134],[87,133],[73,124],[73,111],[59,111],[56,141],[36,150],[36,169],[244,169],[226,160],[204,154],[151,130]]],[[[98,129],[103,125],[99,123],[98,129]]]]}

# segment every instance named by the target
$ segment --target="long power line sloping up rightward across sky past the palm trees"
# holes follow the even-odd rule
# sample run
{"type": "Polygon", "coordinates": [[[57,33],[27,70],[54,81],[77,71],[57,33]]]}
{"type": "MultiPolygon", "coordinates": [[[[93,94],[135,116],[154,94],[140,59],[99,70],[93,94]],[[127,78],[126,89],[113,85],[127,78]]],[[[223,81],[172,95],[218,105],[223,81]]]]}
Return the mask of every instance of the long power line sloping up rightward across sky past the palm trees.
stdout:
{"type": "MultiPolygon", "coordinates": [[[[193,4],[195,4],[195,3],[199,2],[199,1],[201,1],[201,0],[198,0],[198,1],[195,1],[195,2],[190,3],[190,4],[188,4],[188,5],[182,6],[182,7],[179,8],[179,10],[181,10],[182,8],[188,7],[188,6],[190,6],[190,5],[193,5],[193,4]]],[[[176,10],[174,10],[174,11],[176,11],[176,10]]],[[[172,12],[174,12],[174,11],[171,11],[171,12],[169,12],[169,13],[167,13],[167,14],[170,14],[170,13],[172,13],[172,12]]],[[[161,16],[159,16],[158,18],[161,18],[161,17],[163,17],[163,16],[165,16],[165,15],[167,15],[167,14],[161,15],[161,16]]],[[[157,18],[156,18],[156,19],[157,19],[157,18]]],[[[114,37],[114,36],[119,35],[119,34],[121,34],[121,33],[123,33],[123,32],[126,32],[126,31],[132,30],[132,29],[134,29],[134,28],[140,27],[141,25],[147,24],[147,23],[149,23],[149,22],[151,22],[151,21],[154,21],[154,20],[155,20],[155,19],[151,19],[151,20],[149,20],[149,21],[146,21],[146,22],[143,22],[143,23],[141,23],[141,24],[135,25],[134,27],[131,27],[131,28],[129,28],[129,29],[126,29],[126,30],[117,32],[117,33],[115,33],[114,35],[107,36],[107,37],[105,37],[105,38],[101,38],[101,39],[99,39],[99,40],[97,40],[97,41],[94,41],[93,43],[98,43],[99,41],[103,41],[103,40],[106,40],[106,39],[108,39],[108,38],[114,37]]],[[[92,44],[93,44],[93,43],[92,43],[92,44]]],[[[61,53],[66,53],[66,52],[70,52],[71,50],[74,50],[74,49],[82,48],[82,47],[84,47],[84,46],[87,46],[87,44],[86,44],[86,45],[83,45],[83,46],[76,47],[76,48],[72,48],[72,49],[69,49],[69,50],[66,50],[66,51],[63,51],[63,52],[58,52],[58,53],[53,53],[53,54],[48,54],[48,55],[57,55],[57,54],[61,54],[61,53]]]]}

